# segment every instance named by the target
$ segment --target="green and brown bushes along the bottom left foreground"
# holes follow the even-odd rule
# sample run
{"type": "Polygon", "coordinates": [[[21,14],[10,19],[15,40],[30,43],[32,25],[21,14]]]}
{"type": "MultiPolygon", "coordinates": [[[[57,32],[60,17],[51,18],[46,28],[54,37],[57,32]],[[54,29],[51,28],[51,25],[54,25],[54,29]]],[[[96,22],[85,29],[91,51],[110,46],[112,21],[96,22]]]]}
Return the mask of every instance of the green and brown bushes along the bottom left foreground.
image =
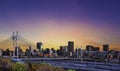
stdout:
{"type": "Polygon", "coordinates": [[[11,62],[9,59],[0,59],[0,71],[75,71],[66,70],[62,67],[55,67],[43,63],[19,63],[11,62]]]}

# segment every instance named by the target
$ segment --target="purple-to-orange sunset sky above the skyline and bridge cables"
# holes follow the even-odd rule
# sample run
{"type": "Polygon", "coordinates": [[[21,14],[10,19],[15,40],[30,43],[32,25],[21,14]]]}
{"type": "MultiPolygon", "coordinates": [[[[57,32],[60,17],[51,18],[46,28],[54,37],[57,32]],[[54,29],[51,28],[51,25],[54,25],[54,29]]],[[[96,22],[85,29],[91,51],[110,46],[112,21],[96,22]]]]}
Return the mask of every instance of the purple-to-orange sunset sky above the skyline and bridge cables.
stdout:
{"type": "Polygon", "coordinates": [[[120,50],[120,1],[0,0],[0,41],[14,31],[44,48],[74,41],[75,47],[109,44],[120,50]]]}

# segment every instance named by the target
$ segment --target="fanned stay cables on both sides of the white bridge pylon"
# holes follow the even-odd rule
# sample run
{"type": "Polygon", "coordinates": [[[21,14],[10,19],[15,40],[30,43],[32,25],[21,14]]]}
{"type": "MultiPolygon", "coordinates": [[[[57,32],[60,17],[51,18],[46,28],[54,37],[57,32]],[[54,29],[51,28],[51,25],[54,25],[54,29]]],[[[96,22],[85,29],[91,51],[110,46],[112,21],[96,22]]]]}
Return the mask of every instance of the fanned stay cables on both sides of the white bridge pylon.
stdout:
{"type": "MultiPolygon", "coordinates": [[[[13,35],[11,35],[9,38],[1,41],[0,48],[3,48],[3,49],[9,48],[10,50],[13,50],[14,49],[13,47],[15,47],[14,46],[15,45],[14,38],[15,37],[13,37],[13,35]]],[[[18,46],[21,47],[22,49],[26,49],[29,46],[35,47],[35,45],[31,41],[25,39],[21,35],[17,35],[17,40],[18,40],[18,46]]]]}

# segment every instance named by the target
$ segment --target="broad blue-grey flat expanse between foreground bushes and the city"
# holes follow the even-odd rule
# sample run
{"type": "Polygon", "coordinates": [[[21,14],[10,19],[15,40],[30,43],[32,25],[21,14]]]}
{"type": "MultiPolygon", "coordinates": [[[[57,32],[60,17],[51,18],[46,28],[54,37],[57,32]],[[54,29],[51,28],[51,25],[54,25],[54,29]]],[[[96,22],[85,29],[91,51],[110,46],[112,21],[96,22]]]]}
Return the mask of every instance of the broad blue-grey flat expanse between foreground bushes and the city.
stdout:
{"type": "MultiPolygon", "coordinates": [[[[27,60],[27,59],[26,59],[27,60]]],[[[47,62],[53,66],[74,69],[76,71],[120,71],[120,64],[101,63],[101,62],[81,62],[73,60],[52,60],[52,59],[31,59],[31,62],[47,62]]]]}

